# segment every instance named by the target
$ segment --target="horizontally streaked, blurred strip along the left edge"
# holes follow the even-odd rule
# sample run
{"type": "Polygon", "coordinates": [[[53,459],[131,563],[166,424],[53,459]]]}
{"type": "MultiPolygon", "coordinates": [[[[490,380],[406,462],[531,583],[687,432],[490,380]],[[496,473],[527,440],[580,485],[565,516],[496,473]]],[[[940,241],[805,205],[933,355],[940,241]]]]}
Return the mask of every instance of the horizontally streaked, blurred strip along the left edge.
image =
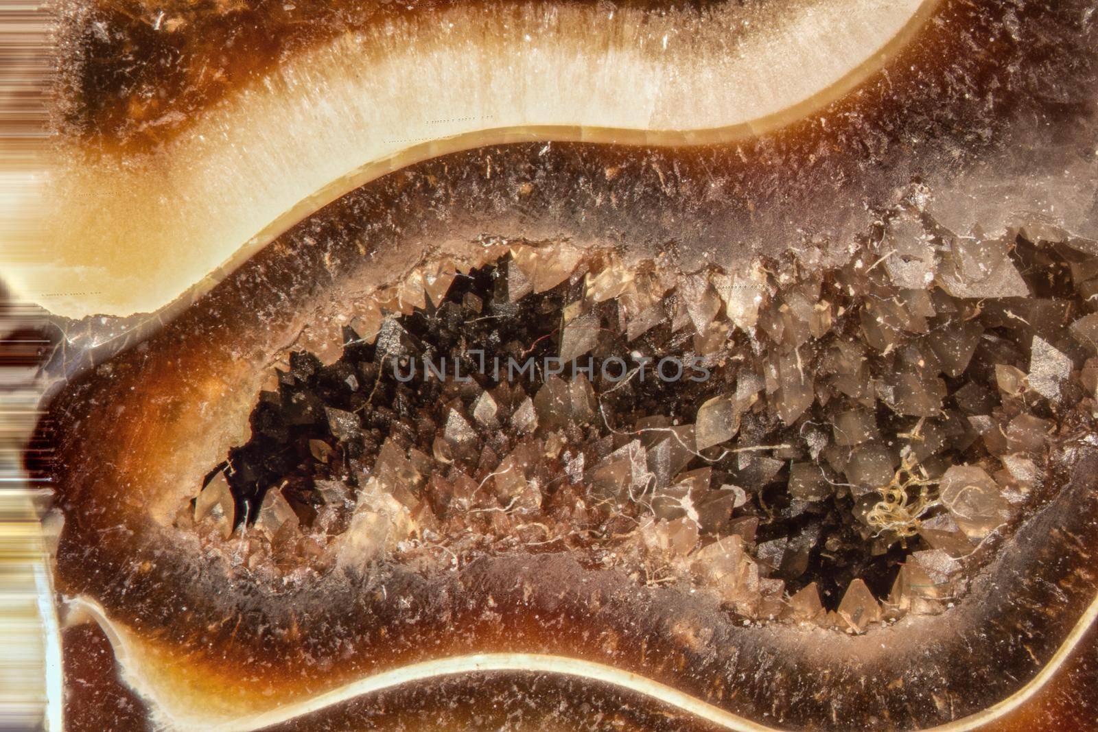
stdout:
{"type": "Polygon", "coordinates": [[[40,521],[49,486],[23,470],[25,451],[47,449],[31,443],[47,338],[44,313],[2,285],[5,272],[45,259],[36,190],[53,69],[51,19],[41,3],[0,0],[0,730],[60,732],[60,650],[40,521]]]}

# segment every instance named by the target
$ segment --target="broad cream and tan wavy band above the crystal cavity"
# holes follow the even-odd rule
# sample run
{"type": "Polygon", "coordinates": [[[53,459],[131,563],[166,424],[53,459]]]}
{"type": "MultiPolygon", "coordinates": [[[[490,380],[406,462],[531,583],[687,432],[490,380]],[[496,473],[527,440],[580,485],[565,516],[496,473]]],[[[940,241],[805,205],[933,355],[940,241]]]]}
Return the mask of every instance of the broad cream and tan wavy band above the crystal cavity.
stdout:
{"type": "Polygon", "coordinates": [[[156,154],[58,146],[48,257],[15,280],[63,315],[152,312],[416,160],[531,138],[684,145],[773,129],[854,88],[935,4],[793,3],[750,24],[720,12],[456,8],[346,35],[226,98],[156,154]]]}

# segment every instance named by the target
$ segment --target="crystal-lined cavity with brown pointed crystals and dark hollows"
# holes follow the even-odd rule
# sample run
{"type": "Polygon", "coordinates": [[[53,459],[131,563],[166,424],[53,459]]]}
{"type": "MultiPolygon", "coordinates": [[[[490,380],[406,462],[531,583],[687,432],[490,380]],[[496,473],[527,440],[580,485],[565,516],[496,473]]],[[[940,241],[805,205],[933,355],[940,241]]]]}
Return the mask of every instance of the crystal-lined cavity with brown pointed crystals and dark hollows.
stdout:
{"type": "Polygon", "coordinates": [[[179,523],[254,572],[537,547],[749,619],[943,611],[1091,418],[1098,266],[899,211],[806,269],[435,262],[305,335],[179,523]]]}

